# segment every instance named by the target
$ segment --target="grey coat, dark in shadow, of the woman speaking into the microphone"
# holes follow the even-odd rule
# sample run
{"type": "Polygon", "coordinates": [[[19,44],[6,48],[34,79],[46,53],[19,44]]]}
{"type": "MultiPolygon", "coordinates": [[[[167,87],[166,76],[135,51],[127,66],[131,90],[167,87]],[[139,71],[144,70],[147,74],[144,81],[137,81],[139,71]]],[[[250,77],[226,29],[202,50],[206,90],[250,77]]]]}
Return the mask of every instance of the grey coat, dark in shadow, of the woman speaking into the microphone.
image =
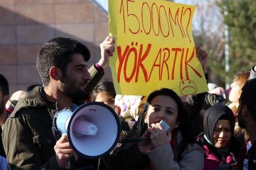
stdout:
{"type": "MultiPolygon", "coordinates": [[[[178,132],[178,145],[182,134],[178,132]]],[[[140,152],[138,144],[134,143],[110,155],[112,170],[144,170],[151,162],[154,170],[202,170],[204,168],[204,152],[200,145],[188,144],[179,162],[173,160],[171,145],[165,144],[150,150],[147,155],[140,152]]]]}

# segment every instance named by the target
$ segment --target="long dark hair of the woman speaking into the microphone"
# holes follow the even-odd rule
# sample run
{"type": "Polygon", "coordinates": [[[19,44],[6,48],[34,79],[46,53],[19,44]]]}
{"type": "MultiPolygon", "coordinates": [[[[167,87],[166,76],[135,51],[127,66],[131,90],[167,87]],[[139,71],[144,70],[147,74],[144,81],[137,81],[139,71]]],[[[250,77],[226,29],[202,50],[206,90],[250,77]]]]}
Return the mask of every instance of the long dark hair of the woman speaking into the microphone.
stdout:
{"type": "MultiPolygon", "coordinates": [[[[186,111],[182,100],[173,90],[170,90],[168,88],[162,88],[160,90],[156,90],[148,96],[148,99],[142,109],[142,113],[138,118],[138,121],[136,121],[136,123],[134,124],[134,126],[132,127],[128,135],[126,136],[126,138],[139,138],[144,133],[146,133],[146,131],[148,130],[148,124],[144,122],[144,118],[146,116],[150,103],[156,96],[170,96],[172,99],[174,99],[174,101],[178,105],[177,121],[179,122],[179,127],[177,130],[180,130],[183,135],[182,142],[179,145],[179,151],[183,152],[183,150],[186,148],[188,143],[192,144],[192,143],[196,143],[196,141],[193,138],[192,133],[190,132],[191,128],[190,128],[190,123],[188,121],[188,112],[186,111]]],[[[120,149],[122,149],[123,147],[128,147],[129,145],[131,144],[122,144],[120,149]]]]}

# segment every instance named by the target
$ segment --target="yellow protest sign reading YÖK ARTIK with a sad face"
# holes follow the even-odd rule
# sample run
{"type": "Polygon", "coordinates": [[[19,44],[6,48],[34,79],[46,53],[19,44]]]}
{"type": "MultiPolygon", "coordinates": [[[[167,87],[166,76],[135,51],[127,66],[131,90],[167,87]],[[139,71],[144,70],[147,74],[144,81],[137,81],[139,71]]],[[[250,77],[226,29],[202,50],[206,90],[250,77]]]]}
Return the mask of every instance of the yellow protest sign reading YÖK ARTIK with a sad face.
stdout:
{"type": "Polygon", "coordinates": [[[109,0],[109,33],[116,40],[110,68],[117,94],[148,96],[160,88],[178,95],[208,91],[196,58],[195,6],[164,0],[109,0]]]}

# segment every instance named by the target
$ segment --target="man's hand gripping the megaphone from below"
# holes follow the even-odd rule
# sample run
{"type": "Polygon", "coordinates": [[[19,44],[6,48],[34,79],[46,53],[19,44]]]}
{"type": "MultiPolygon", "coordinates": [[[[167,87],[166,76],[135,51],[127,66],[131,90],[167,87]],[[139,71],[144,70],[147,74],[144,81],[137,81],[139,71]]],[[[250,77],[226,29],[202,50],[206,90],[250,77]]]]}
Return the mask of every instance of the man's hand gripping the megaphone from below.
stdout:
{"type": "Polygon", "coordinates": [[[63,135],[54,146],[54,151],[56,153],[56,160],[60,168],[68,170],[68,154],[73,154],[75,160],[78,159],[78,154],[70,147],[68,143],[67,135],[63,135]]]}

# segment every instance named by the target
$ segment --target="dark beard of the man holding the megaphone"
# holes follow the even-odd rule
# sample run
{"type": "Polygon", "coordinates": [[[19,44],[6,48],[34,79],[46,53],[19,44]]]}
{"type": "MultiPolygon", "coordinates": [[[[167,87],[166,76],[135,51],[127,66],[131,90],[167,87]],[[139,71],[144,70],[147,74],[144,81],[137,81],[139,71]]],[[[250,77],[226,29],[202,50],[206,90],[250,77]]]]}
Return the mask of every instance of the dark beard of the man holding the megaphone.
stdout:
{"type": "Polygon", "coordinates": [[[84,88],[84,91],[80,89],[81,85],[87,85],[88,81],[80,82],[79,84],[72,78],[66,77],[62,80],[61,91],[72,98],[72,100],[86,100],[89,97],[87,88],[84,88]]]}

